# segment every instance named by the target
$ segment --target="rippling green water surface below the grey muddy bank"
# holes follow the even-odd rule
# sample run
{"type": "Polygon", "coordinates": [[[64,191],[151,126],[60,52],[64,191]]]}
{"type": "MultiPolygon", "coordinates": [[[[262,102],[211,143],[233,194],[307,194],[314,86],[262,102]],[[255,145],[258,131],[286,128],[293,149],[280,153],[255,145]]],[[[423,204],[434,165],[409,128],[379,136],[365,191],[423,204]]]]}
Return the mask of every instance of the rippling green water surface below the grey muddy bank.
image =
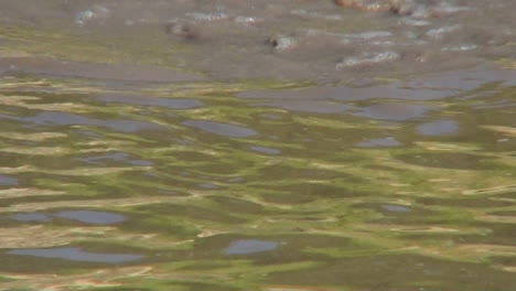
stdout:
{"type": "Polygon", "coordinates": [[[487,67],[333,99],[6,73],[0,289],[516,290],[514,69],[487,67]]]}

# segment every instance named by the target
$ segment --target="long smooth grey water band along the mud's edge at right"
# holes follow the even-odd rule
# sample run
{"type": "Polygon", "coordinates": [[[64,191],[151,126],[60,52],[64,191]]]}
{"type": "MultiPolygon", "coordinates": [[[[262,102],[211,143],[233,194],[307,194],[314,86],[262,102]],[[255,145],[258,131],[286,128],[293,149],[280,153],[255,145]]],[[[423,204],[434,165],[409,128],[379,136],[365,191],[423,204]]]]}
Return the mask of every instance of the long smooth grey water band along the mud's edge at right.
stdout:
{"type": "MultiPolygon", "coordinates": [[[[322,104],[330,106],[330,103],[318,103],[314,101],[315,99],[337,101],[372,99],[436,100],[467,93],[484,84],[494,82],[503,86],[514,86],[516,84],[514,79],[516,79],[516,73],[510,69],[480,66],[469,71],[444,72],[422,78],[409,79],[407,82],[393,82],[387,85],[365,87],[325,86],[289,90],[248,90],[239,93],[237,96],[250,99],[269,99],[275,100],[271,101],[272,104],[292,106],[301,106],[303,104],[322,104]],[[288,100],[297,100],[298,103],[288,103],[288,100]]],[[[308,106],[305,107],[308,108],[308,106]]],[[[344,109],[347,110],[348,108],[344,105],[340,105],[334,110],[336,110],[335,112],[342,112],[344,109]]],[[[295,108],[293,108],[293,110],[295,110],[295,108]]],[[[331,111],[332,109],[329,110],[331,111]]]]}

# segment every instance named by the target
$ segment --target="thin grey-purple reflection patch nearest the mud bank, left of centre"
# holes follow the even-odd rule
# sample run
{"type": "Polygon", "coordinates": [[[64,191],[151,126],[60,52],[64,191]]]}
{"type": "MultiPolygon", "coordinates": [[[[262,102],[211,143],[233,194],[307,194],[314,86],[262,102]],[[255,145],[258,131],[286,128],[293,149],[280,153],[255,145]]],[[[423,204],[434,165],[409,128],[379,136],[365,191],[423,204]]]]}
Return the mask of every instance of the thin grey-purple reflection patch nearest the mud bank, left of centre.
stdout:
{"type": "Polygon", "coordinates": [[[95,97],[97,100],[106,104],[133,104],[142,106],[159,106],[171,109],[191,109],[203,106],[204,104],[195,99],[186,98],[155,98],[150,96],[135,95],[100,95],[95,97]]]}

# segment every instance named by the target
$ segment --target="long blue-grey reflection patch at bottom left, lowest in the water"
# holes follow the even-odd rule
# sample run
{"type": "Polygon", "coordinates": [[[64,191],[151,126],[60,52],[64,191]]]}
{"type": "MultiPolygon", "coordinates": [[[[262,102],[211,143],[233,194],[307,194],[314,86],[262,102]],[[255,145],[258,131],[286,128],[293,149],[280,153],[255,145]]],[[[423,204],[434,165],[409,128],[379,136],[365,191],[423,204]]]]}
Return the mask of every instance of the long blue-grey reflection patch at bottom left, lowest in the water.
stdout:
{"type": "Polygon", "coordinates": [[[130,254],[99,254],[79,248],[49,248],[49,249],[13,249],[8,255],[33,256],[51,259],[63,259],[84,262],[125,263],[142,259],[143,256],[130,254]]]}

